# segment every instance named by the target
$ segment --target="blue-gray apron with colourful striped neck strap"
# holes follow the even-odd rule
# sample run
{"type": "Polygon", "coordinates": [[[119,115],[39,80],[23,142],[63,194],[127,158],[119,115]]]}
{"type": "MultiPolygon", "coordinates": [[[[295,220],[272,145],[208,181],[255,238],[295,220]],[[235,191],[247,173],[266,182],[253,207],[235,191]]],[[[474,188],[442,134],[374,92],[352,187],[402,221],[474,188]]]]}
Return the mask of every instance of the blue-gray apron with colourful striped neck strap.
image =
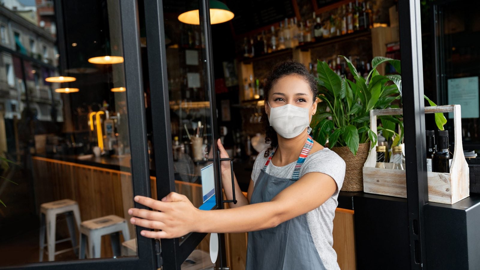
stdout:
{"type": "MultiPolygon", "coordinates": [[[[250,203],[271,201],[278,193],[300,178],[300,169],[313,146],[308,137],[292,178],[280,178],[265,172],[275,150],[260,172],[250,203]]],[[[292,198],[295,203],[295,198],[292,198]]],[[[285,221],[275,228],[248,233],[247,270],[323,270],[325,269],[307,222],[306,214],[285,221]]]]}

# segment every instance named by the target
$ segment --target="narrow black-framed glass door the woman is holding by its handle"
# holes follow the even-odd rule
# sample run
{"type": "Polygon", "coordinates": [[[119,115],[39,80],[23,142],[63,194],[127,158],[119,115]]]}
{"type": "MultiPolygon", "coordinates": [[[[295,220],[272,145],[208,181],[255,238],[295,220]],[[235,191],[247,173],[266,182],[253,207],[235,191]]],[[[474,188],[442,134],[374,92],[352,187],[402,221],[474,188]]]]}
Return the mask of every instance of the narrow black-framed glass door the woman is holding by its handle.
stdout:
{"type": "MultiPolygon", "coordinates": [[[[154,197],[177,192],[205,210],[223,207],[208,4],[206,0],[144,1],[154,197]]],[[[223,237],[190,233],[162,239],[164,269],[224,269],[223,237]],[[214,244],[219,250],[213,256],[216,263],[209,250],[214,244]]]]}

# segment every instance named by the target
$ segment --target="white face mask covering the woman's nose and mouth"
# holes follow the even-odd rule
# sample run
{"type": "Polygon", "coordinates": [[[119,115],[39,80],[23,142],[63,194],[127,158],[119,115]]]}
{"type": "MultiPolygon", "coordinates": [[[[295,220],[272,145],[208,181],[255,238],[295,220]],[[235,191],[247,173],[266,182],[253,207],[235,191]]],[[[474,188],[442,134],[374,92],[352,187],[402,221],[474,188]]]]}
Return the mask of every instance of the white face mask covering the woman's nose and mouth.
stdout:
{"type": "Polygon", "coordinates": [[[278,135],[290,139],[302,133],[310,125],[309,108],[301,108],[291,104],[270,107],[268,122],[278,135]]]}

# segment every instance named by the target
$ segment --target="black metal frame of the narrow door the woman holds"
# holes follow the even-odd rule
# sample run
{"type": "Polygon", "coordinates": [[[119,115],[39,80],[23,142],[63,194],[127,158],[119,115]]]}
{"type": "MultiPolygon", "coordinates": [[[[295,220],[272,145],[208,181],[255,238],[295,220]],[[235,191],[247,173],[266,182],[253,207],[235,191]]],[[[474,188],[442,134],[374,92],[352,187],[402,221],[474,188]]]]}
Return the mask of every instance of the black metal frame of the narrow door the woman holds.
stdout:
{"type": "MultiPolygon", "coordinates": [[[[216,101],[215,87],[212,63],[212,41],[210,30],[209,1],[199,0],[199,15],[202,31],[205,36],[204,56],[204,82],[205,91],[208,93],[210,101],[210,127],[212,138],[218,138],[216,123],[216,101]]],[[[162,0],[144,1],[148,72],[150,83],[150,103],[152,112],[152,126],[154,137],[155,168],[157,173],[156,186],[157,198],[167,196],[170,192],[175,192],[175,178],[173,173],[173,151],[170,128],[170,105],[168,95],[168,77],[167,77],[167,56],[165,47],[165,28],[163,16],[162,0]],[[163,116],[163,117],[162,117],[163,116]],[[160,177],[161,175],[161,177],[160,177]]],[[[216,140],[213,139],[213,159],[218,160],[216,140]]],[[[215,179],[220,179],[218,168],[219,161],[214,162],[215,179]]],[[[221,181],[216,181],[216,205],[217,209],[222,209],[221,181]]],[[[193,249],[204,239],[206,233],[191,233],[185,239],[180,238],[161,239],[161,261],[163,269],[180,269],[181,264],[192,253],[193,249]]],[[[217,259],[217,268],[225,266],[225,241],[224,234],[218,234],[219,258],[217,259]]]]}

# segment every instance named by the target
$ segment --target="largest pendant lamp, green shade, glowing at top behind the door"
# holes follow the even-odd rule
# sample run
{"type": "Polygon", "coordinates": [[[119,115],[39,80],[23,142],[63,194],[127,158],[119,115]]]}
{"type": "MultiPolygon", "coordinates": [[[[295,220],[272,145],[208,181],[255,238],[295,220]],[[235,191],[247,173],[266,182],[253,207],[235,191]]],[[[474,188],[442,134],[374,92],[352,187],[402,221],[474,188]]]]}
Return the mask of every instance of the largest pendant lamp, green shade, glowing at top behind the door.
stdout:
{"type": "MultiPolygon", "coordinates": [[[[219,0],[210,0],[210,24],[221,24],[233,19],[235,15],[227,5],[219,0]]],[[[198,9],[183,12],[178,17],[179,21],[189,25],[200,25],[198,9]]]]}

